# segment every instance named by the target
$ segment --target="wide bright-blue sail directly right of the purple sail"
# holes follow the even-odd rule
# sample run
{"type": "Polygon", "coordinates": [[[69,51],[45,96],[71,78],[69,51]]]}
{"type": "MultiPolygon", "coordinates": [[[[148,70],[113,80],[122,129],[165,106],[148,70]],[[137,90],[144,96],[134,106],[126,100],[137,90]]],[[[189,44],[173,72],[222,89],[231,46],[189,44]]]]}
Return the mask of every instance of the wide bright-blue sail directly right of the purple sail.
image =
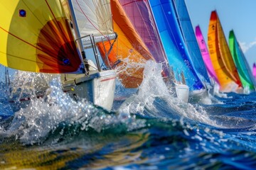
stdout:
{"type": "Polygon", "coordinates": [[[183,40],[181,29],[178,27],[177,16],[171,0],[149,0],[149,4],[167,59],[174,69],[176,79],[178,79],[178,73],[182,71],[190,91],[203,89],[203,83],[199,79],[193,64],[191,64],[191,58],[183,40]]]}

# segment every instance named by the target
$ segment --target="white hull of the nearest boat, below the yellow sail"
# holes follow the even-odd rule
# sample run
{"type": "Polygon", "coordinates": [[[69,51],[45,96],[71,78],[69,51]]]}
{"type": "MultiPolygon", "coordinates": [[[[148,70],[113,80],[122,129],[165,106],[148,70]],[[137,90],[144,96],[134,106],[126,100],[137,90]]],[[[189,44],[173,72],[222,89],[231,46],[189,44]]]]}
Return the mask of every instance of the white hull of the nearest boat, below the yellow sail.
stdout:
{"type": "Polygon", "coordinates": [[[97,106],[111,110],[114,101],[116,73],[114,70],[85,74],[68,74],[63,81],[63,91],[75,101],[86,98],[97,106]]]}

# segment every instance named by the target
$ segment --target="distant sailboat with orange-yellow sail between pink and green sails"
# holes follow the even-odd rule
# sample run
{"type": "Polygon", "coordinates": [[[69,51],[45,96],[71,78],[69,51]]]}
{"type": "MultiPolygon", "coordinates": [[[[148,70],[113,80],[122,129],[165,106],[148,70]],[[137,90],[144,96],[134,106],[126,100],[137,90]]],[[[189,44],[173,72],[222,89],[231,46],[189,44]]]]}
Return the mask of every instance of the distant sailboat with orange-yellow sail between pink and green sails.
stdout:
{"type": "Polygon", "coordinates": [[[213,68],[220,82],[220,91],[240,93],[242,83],[230,54],[228,43],[225,40],[223,28],[216,11],[212,11],[210,15],[208,47],[210,60],[213,63],[213,68]]]}

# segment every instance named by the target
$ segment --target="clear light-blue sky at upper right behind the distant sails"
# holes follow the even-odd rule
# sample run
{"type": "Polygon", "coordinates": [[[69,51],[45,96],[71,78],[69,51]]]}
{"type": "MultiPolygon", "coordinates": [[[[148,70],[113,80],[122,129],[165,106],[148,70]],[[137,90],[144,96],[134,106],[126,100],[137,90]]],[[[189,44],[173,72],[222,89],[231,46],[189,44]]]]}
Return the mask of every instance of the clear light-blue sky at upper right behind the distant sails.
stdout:
{"type": "Polygon", "coordinates": [[[226,40],[233,29],[252,69],[256,62],[256,0],[185,1],[193,28],[199,25],[206,41],[210,13],[217,11],[226,40]]]}

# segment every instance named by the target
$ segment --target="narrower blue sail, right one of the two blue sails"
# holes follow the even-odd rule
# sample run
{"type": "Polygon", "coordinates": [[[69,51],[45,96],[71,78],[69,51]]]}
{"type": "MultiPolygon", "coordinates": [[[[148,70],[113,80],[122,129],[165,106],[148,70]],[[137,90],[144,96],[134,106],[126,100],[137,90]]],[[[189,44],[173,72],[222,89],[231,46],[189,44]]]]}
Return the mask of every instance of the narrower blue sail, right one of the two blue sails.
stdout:
{"type": "Polygon", "coordinates": [[[172,0],[174,7],[178,16],[178,23],[180,24],[181,31],[183,33],[183,39],[186,42],[186,47],[188,47],[188,52],[192,60],[193,67],[196,69],[197,74],[199,74],[201,80],[210,84],[210,79],[206,70],[206,66],[203,62],[203,57],[196,40],[196,35],[193,30],[191,19],[186,8],[186,3],[184,0],[172,0]]]}

